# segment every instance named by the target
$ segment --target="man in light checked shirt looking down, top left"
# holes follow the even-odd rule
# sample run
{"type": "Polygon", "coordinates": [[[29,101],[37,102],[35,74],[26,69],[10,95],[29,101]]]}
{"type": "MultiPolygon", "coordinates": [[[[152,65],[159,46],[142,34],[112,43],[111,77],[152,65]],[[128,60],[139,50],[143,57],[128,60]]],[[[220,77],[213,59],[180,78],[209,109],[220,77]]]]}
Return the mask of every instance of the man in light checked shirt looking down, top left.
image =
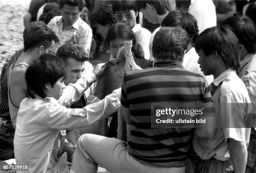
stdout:
{"type": "Polygon", "coordinates": [[[62,16],[54,17],[47,25],[59,38],[59,44],[54,46],[54,53],[61,45],[73,43],[84,48],[89,55],[92,29],[79,17],[84,5],[84,0],[60,0],[62,16]]]}

